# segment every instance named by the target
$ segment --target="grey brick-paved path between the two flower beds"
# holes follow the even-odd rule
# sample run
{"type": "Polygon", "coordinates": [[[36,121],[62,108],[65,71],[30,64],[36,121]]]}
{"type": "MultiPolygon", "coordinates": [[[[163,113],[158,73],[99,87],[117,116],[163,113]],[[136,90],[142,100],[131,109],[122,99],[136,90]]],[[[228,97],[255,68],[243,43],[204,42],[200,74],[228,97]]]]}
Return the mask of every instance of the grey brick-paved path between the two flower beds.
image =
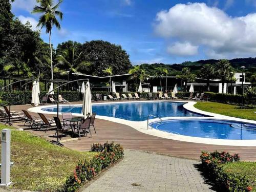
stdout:
{"type": "Polygon", "coordinates": [[[81,191],[213,191],[195,167],[199,163],[125,150],[121,162],[81,191]]]}

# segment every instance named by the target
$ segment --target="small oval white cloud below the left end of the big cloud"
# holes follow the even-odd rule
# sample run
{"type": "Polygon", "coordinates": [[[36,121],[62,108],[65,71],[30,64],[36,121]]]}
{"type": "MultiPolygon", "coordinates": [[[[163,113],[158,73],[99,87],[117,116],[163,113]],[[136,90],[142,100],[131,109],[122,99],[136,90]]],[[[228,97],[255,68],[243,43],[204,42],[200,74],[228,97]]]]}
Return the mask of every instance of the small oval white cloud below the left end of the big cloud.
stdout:
{"type": "Polygon", "coordinates": [[[167,47],[167,52],[179,56],[192,56],[198,53],[198,46],[193,46],[189,42],[175,42],[167,47]]]}

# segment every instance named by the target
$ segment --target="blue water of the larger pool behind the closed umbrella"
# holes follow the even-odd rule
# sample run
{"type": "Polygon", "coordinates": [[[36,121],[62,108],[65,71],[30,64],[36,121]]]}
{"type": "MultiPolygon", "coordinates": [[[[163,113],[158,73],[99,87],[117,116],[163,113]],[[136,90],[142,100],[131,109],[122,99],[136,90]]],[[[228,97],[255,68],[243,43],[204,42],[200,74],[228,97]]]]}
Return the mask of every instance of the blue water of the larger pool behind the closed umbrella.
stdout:
{"type": "MultiPolygon", "coordinates": [[[[200,117],[202,115],[191,113],[183,108],[180,102],[130,102],[93,105],[93,113],[102,116],[116,117],[130,121],[144,121],[147,115],[158,117],[200,117]]],[[[56,107],[42,109],[57,112],[56,107]]],[[[81,106],[60,106],[59,112],[81,113],[81,106]]]]}

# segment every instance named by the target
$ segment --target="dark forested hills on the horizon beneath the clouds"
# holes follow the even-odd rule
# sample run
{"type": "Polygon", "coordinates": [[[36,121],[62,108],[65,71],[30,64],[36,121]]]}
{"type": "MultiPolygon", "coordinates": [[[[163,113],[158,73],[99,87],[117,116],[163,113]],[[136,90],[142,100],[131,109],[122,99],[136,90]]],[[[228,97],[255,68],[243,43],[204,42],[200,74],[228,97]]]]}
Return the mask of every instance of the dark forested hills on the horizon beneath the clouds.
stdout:
{"type": "MultiPolygon", "coordinates": [[[[195,62],[186,61],[181,64],[164,64],[164,63],[154,63],[154,64],[147,64],[144,63],[141,66],[147,71],[148,74],[154,75],[156,67],[164,67],[168,70],[169,76],[176,76],[180,73],[182,68],[189,67],[191,71],[195,74],[200,72],[200,69],[205,64],[214,64],[218,62],[215,59],[208,59],[208,60],[199,60],[195,62]]],[[[245,72],[247,73],[247,77],[250,77],[251,74],[256,73],[256,58],[237,58],[229,60],[231,66],[234,68],[235,71],[241,72],[241,67],[245,66],[245,72]]]]}

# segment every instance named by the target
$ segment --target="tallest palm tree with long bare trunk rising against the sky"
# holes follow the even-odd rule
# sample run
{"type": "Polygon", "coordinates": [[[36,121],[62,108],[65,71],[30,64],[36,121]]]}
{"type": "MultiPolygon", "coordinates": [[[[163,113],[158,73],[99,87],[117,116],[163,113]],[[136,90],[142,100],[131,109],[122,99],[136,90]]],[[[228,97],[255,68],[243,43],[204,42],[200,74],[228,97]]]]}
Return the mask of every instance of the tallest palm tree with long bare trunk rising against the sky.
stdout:
{"type": "Polygon", "coordinates": [[[50,55],[51,55],[51,75],[53,79],[53,61],[52,61],[52,45],[51,45],[51,33],[53,26],[60,29],[60,24],[56,18],[58,16],[62,20],[62,12],[58,11],[59,5],[62,0],[58,0],[56,5],[53,5],[53,0],[37,0],[39,6],[35,6],[32,13],[42,13],[38,20],[37,27],[46,27],[46,33],[49,33],[49,45],[50,45],[50,55]]]}

